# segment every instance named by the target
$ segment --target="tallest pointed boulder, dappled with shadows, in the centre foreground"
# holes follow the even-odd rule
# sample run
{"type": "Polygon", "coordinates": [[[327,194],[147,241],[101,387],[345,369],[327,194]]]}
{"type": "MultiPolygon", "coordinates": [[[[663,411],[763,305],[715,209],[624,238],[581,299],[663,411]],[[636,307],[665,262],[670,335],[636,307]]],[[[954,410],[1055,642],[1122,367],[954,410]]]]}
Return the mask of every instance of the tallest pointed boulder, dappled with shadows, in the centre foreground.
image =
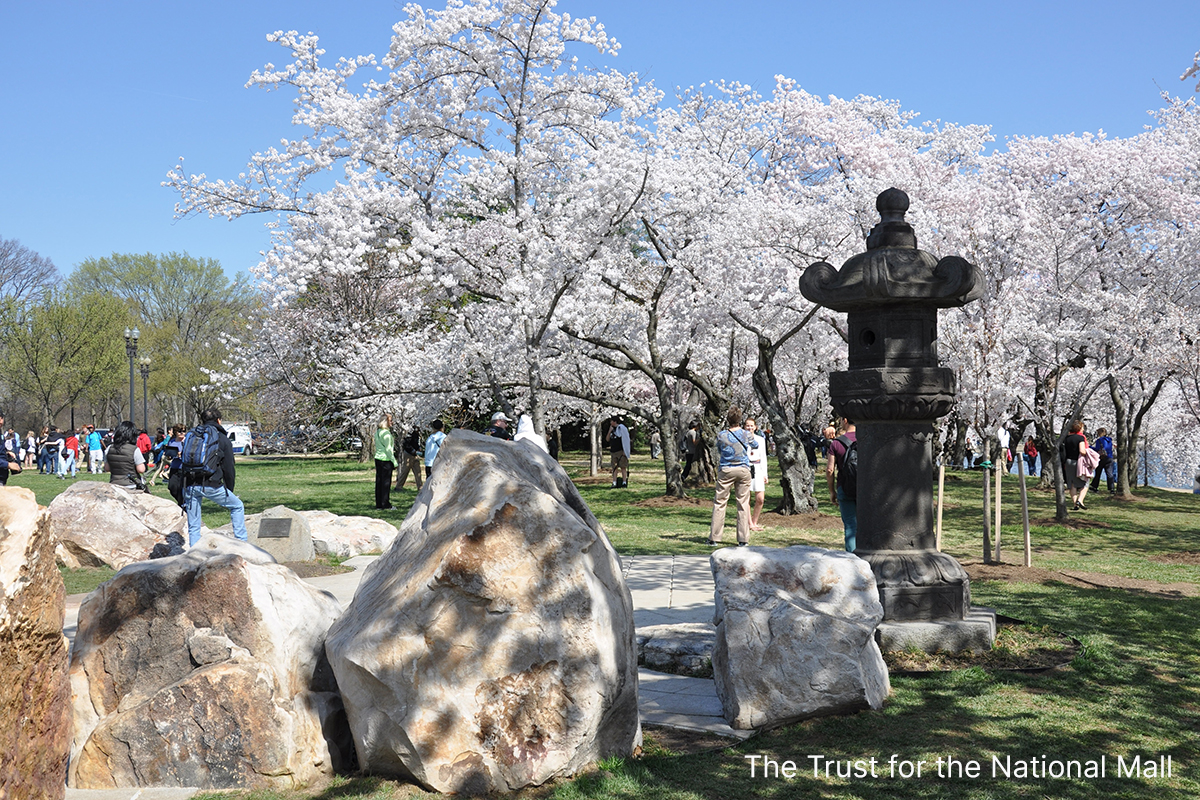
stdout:
{"type": "Polygon", "coordinates": [[[526,443],[450,434],[325,648],[367,772],[509,792],[641,742],[620,563],[526,443]]]}

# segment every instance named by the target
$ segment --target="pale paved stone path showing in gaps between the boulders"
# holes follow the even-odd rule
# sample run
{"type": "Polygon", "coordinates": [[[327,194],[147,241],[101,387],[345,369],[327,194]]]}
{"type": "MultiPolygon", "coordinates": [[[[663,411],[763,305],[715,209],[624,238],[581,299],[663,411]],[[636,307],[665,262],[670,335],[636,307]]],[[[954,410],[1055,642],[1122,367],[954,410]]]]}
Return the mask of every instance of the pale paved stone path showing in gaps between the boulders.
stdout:
{"type": "MultiPolygon", "coordinates": [[[[359,555],[344,561],[355,567],[307,582],[334,594],[342,608],[350,604],[362,579],[362,570],[377,555],[359,555]]],[[[622,558],[625,584],[634,599],[634,625],[671,625],[713,621],[713,573],[707,555],[628,555],[622,558]]],[[[64,632],[74,640],[83,595],[67,597],[64,632]]],[[[725,723],[721,702],[710,679],[668,675],[650,669],[637,670],[638,709],[642,722],[685,730],[698,730],[746,739],[748,730],[725,723]]],[[[67,789],[67,800],[184,800],[194,789],[67,789]]]]}

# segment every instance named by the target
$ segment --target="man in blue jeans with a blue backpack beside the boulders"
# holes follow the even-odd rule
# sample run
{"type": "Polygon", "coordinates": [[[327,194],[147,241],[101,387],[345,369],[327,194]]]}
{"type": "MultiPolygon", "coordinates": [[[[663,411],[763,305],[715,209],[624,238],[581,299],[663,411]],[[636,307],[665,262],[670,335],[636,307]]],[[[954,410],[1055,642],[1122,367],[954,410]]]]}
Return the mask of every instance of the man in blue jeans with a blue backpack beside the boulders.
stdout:
{"type": "Polygon", "coordinates": [[[188,546],[200,539],[200,501],[204,499],[228,509],[234,536],[247,541],[246,509],[233,493],[233,443],[221,427],[221,411],[210,408],[200,414],[200,423],[187,432],[179,457],[188,546]]]}

